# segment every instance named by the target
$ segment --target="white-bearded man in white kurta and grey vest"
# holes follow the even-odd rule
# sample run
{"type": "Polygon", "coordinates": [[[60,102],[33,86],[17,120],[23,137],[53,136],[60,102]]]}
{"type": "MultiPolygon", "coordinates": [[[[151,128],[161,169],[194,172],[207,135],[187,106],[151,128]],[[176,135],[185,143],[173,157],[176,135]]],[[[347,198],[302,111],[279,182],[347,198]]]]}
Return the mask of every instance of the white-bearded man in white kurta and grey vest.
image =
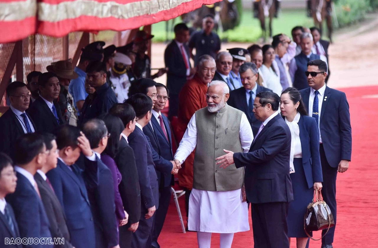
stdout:
{"type": "Polygon", "coordinates": [[[225,82],[211,82],[204,97],[208,107],[192,116],[175,162],[183,163],[196,148],[188,229],[197,231],[200,248],[210,248],[211,233],[220,233],[220,247],[229,248],[234,233],[249,230],[248,205],[242,196],[244,169],[222,171],[215,158],[224,155],[223,147],[248,152],[253,133],[246,115],[226,104],[225,82]]]}

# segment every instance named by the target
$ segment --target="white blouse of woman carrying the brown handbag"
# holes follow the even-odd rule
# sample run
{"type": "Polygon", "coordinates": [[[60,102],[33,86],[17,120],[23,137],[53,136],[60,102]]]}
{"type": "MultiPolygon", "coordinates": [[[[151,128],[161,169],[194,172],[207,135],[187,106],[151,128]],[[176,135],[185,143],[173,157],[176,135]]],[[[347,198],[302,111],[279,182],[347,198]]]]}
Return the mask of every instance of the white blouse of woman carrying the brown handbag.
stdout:
{"type": "Polygon", "coordinates": [[[292,122],[288,121],[285,117],[285,122],[289,126],[291,133],[291,148],[290,148],[290,173],[294,173],[294,158],[302,158],[302,144],[299,138],[298,122],[301,114],[297,113],[292,122]]]}

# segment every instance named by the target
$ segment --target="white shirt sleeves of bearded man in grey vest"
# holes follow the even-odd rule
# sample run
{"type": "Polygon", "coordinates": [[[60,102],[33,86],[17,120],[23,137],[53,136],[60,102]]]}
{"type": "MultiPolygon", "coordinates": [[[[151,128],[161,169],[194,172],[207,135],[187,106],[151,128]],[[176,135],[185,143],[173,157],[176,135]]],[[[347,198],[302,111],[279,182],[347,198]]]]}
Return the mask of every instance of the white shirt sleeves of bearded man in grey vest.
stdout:
{"type": "MultiPolygon", "coordinates": [[[[251,129],[251,124],[249,124],[247,116],[245,113],[242,114],[242,119],[240,121],[240,131],[239,131],[240,143],[242,144],[243,152],[248,152],[249,147],[253,141],[253,133],[251,129]]],[[[197,145],[197,127],[195,123],[195,113],[189,121],[187,129],[184,133],[184,137],[178,146],[175,153],[175,159],[180,161],[182,164],[186,158],[193,152],[195,146],[197,145]]]]}

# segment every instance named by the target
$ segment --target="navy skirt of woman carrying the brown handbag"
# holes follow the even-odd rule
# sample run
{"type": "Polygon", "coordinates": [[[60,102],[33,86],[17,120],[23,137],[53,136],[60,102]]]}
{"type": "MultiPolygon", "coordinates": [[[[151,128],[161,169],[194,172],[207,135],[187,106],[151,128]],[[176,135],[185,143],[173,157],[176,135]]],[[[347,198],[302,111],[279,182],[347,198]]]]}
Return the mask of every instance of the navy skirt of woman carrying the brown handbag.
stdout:
{"type": "Polygon", "coordinates": [[[302,158],[294,158],[294,169],[295,172],[290,174],[294,200],[289,203],[287,215],[288,236],[292,238],[307,238],[304,231],[304,216],[308,203],[312,202],[314,188],[308,188],[302,158]]]}

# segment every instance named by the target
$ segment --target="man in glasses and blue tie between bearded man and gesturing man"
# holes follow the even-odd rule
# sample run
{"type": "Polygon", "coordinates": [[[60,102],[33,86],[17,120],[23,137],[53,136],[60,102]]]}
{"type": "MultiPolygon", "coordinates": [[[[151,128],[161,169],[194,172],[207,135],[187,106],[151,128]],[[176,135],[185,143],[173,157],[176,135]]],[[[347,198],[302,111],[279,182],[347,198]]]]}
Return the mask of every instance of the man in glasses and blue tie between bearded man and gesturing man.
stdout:
{"type": "Polygon", "coordinates": [[[253,136],[256,136],[261,125],[261,121],[256,119],[253,113],[253,102],[256,95],[262,91],[271,91],[256,83],[259,72],[254,63],[246,62],[240,66],[240,78],[243,87],[230,92],[228,105],[237,108],[245,113],[252,127],[253,136]]]}

